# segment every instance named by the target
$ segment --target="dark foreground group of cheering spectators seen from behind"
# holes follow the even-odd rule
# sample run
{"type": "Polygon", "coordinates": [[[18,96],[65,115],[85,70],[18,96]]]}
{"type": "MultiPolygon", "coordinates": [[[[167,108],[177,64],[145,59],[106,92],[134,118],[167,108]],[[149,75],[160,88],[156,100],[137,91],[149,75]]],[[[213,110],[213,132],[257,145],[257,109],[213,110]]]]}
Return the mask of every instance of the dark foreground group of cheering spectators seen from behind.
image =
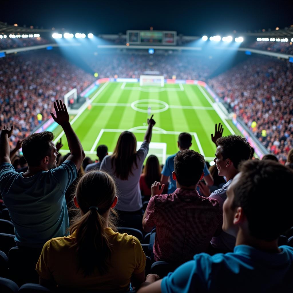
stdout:
{"type": "MultiPolygon", "coordinates": [[[[63,128],[70,151],[61,160],[62,143],[54,144],[52,132],[31,134],[22,142],[27,169],[19,173],[12,165],[17,154],[8,142],[13,127],[0,130],[0,192],[14,226],[17,260],[21,253],[30,256],[22,264],[16,260],[16,268],[11,260],[14,274],[8,277],[19,285],[33,279],[51,292],[234,292],[236,287],[247,292],[252,286],[247,278],[254,280],[254,292],[292,291],[293,237],[284,236],[293,232],[289,167],[274,156],[252,159],[245,138],[223,137],[222,125],[216,124],[213,176],[204,157],[190,149],[192,137],[186,132],[179,135],[179,151],[168,157],[163,170],[149,156],[142,173],[154,115],[147,119],[138,151],[134,134],[124,131],[113,154],[99,146],[99,162],[91,163],[65,104],[56,100],[54,109],[52,118],[63,128]],[[215,187],[218,177],[224,182],[215,187]],[[70,225],[69,188],[76,207],[70,225]],[[149,195],[145,207],[141,190],[149,195]],[[284,200],[276,201],[277,194],[284,200]],[[141,231],[133,229],[138,224],[141,231]],[[132,235],[142,232],[150,233],[144,246],[132,235]],[[280,245],[284,238],[286,245],[280,245]],[[165,263],[156,271],[162,265],[158,261],[165,263]],[[15,273],[19,267],[23,271],[15,273]]],[[[9,235],[1,234],[0,240],[5,237],[9,235]]],[[[6,249],[8,257],[16,251],[6,249]]]]}

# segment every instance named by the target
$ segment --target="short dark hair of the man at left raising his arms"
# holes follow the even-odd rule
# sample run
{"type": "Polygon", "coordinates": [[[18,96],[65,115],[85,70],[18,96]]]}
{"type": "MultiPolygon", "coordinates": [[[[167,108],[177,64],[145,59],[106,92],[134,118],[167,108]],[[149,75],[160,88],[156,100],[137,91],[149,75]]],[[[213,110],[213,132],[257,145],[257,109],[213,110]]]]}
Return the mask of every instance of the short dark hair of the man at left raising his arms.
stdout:
{"type": "Polygon", "coordinates": [[[30,134],[25,137],[22,144],[23,156],[28,162],[28,166],[40,166],[45,156],[51,155],[52,145],[50,142],[54,139],[54,134],[50,131],[30,134]]]}

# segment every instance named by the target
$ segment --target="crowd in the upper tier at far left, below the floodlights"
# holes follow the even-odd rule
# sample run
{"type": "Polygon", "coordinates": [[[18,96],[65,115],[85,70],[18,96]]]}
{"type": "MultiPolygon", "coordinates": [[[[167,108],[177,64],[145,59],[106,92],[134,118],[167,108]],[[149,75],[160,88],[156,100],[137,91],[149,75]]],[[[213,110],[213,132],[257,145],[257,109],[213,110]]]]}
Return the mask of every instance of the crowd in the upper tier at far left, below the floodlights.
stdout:
{"type": "Polygon", "coordinates": [[[38,37],[38,38],[2,38],[0,39],[0,50],[4,49],[15,49],[21,47],[30,47],[37,45],[49,44],[49,41],[38,37]]]}

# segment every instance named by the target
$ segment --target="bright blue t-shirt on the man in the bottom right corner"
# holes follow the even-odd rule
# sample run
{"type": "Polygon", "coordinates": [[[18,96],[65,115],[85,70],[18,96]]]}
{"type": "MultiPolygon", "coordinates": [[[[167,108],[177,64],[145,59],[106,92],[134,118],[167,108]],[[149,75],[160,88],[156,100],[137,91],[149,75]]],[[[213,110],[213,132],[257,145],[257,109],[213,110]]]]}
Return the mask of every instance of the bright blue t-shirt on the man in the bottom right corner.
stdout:
{"type": "Polygon", "coordinates": [[[280,253],[238,245],[234,252],[200,253],[164,277],[163,293],[293,292],[293,248],[280,253]],[[285,291],[286,290],[286,291],[285,291]]]}

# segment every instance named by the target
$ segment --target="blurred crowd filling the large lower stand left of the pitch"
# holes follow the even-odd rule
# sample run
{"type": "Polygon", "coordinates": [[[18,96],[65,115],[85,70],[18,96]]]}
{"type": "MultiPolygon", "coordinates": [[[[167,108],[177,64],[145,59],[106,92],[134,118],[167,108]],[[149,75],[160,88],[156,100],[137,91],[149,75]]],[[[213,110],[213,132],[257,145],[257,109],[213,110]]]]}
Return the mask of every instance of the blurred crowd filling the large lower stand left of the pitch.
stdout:
{"type": "MultiPolygon", "coordinates": [[[[72,88],[80,93],[94,77],[54,52],[0,59],[0,125],[14,125],[13,145],[48,118],[52,101],[72,88]]],[[[50,115],[50,114],[49,114],[50,115]]]]}

